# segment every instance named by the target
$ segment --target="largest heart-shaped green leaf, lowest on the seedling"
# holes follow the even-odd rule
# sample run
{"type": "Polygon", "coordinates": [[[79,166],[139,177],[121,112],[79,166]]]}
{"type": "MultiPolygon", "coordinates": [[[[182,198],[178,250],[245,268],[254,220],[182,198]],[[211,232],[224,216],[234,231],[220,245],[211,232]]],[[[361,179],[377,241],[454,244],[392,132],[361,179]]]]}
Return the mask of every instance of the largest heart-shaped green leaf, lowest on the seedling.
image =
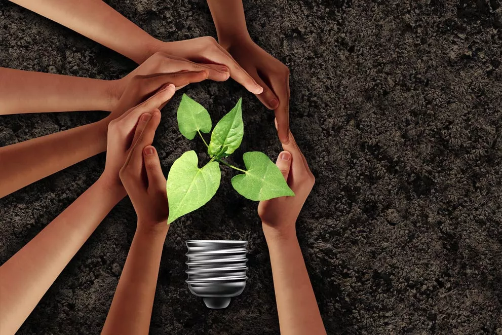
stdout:
{"type": "Polygon", "coordinates": [[[218,162],[199,168],[195,151],[188,151],[174,161],[167,177],[167,199],[170,224],[178,217],[204,206],[220,185],[218,162]]]}

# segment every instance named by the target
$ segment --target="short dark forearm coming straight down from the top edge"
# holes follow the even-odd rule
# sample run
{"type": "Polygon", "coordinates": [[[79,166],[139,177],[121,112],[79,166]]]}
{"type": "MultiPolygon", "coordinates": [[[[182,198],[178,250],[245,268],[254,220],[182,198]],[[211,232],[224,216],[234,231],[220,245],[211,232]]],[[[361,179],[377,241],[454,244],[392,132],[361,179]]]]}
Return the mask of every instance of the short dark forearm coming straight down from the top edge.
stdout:
{"type": "Polygon", "coordinates": [[[236,39],[249,38],[242,0],[207,0],[218,42],[226,47],[236,39]]]}

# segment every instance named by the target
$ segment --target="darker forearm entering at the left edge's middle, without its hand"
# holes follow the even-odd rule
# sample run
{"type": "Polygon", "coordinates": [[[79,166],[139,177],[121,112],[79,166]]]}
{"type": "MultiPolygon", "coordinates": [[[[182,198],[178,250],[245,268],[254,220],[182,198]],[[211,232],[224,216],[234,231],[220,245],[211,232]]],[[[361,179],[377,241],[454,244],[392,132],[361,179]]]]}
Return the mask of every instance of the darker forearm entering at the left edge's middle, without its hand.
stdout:
{"type": "Polygon", "coordinates": [[[105,151],[108,122],[0,147],[0,198],[105,151]]]}

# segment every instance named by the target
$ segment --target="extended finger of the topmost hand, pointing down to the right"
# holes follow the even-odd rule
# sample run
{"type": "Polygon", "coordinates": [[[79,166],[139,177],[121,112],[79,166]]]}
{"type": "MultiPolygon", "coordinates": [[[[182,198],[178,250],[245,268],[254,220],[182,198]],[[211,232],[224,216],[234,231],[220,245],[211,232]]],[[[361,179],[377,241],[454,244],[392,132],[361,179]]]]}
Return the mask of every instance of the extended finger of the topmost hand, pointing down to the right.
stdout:
{"type": "Polygon", "coordinates": [[[263,88],[259,86],[255,80],[246,72],[230,54],[218,44],[217,48],[206,51],[204,57],[212,62],[223,64],[230,70],[230,77],[236,82],[244,86],[249,92],[260,94],[263,88]]]}

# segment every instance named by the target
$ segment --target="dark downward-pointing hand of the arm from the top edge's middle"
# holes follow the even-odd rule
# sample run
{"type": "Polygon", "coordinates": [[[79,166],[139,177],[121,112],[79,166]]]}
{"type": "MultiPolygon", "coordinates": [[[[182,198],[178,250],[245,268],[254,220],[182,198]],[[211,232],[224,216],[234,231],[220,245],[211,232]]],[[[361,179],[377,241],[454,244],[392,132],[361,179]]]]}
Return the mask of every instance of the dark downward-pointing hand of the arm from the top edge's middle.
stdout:
{"type": "Polygon", "coordinates": [[[289,69],[256,45],[251,38],[222,42],[228,52],[263,87],[258,99],[269,109],[275,109],[279,124],[278,133],[282,143],[288,143],[289,132],[289,69]]]}

